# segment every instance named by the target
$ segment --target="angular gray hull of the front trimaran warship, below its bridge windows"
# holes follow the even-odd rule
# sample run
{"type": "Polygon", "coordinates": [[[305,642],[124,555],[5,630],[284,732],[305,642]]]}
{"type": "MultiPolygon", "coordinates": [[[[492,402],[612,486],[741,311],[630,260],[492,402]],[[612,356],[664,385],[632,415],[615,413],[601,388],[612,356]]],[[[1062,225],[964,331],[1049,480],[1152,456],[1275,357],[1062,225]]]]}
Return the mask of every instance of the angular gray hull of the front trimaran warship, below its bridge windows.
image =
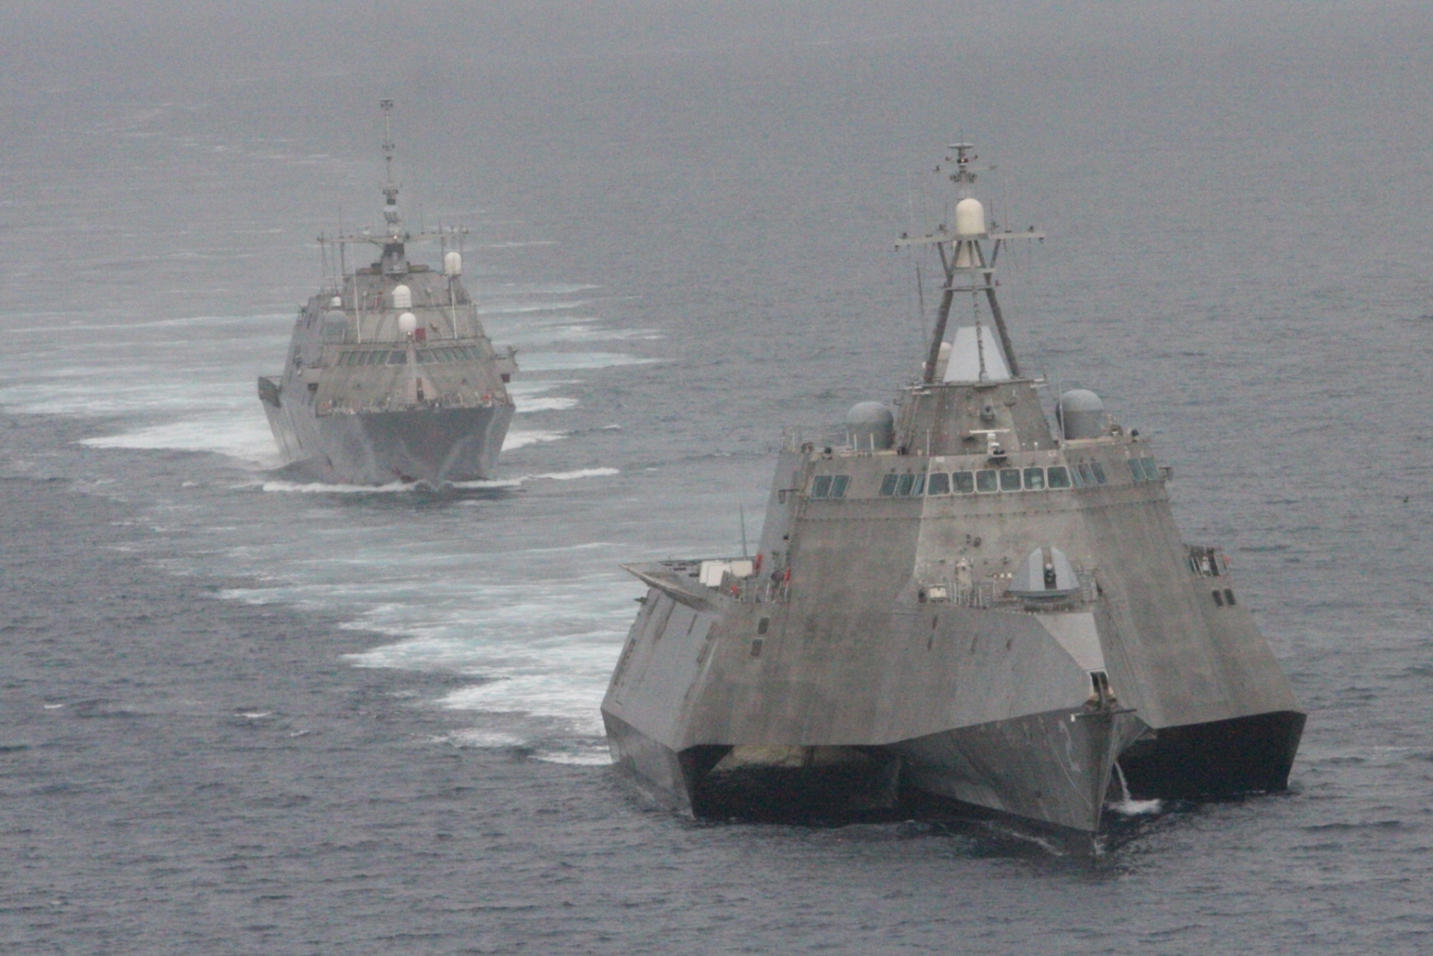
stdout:
{"type": "Polygon", "coordinates": [[[880,761],[861,780],[860,761],[791,758],[850,748],[898,758],[903,797],[1095,833],[1116,761],[1141,798],[1287,787],[1304,714],[1227,569],[1205,575],[1179,542],[1161,486],[901,503],[877,490],[893,459],[782,453],[761,553],[791,548],[790,573],[718,585],[702,580],[712,562],[628,568],[649,591],[602,709],[648,790],[696,816],[778,816],[764,794],[791,816],[860,810],[887,780],[880,761]],[[844,500],[790,492],[817,467],[851,474],[844,500]],[[1016,555],[1053,539],[1098,572],[1048,603],[941,579],[964,555],[1009,566],[1006,536],[1016,555]],[[692,757],[721,747],[745,757],[692,757]],[[741,781],[754,804],[734,814],[741,781]]]}

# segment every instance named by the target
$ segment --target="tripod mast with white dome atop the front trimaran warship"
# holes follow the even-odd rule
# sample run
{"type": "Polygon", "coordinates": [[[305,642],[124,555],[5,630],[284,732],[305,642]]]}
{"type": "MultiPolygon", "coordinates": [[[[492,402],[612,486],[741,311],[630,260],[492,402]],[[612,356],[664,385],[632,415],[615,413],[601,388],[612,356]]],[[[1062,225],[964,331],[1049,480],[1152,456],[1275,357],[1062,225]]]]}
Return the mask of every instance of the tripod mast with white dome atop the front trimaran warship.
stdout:
{"type": "MultiPolygon", "coordinates": [[[[956,292],[970,292],[977,297],[984,292],[990,305],[990,315],[995,318],[996,331],[1000,335],[1000,348],[1012,376],[1020,374],[1020,365],[1015,358],[1015,347],[1010,344],[1010,331],[1005,324],[1005,312],[1000,311],[1000,300],[996,298],[995,262],[1000,257],[1002,244],[1010,239],[1043,239],[1043,232],[1036,232],[1032,226],[1027,232],[992,232],[986,229],[984,206],[970,195],[970,185],[976,181],[976,172],[970,163],[979,159],[972,150],[973,143],[950,143],[954,158],[946,156],[946,162],[954,162],[954,172],[947,173],[950,182],[956,183],[956,222],[954,231],[946,224],[934,232],[921,238],[901,235],[896,248],[907,245],[934,245],[940,254],[940,267],[946,282],[941,288],[940,307],[936,310],[936,328],[930,337],[930,351],[926,355],[926,367],[921,380],[924,384],[936,381],[936,363],[940,358],[940,345],[946,341],[946,325],[950,321],[950,307],[954,304],[956,292]],[[990,244],[990,255],[986,258],[984,242],[990,244]],[[959,279],[959,284],[957,284],[959,279]]],[[[936,168],[940,172],[940,168],[936,168]]],[[[980,338],[976,338],[980,345],[980,338]]],[[[983,347],[983,345],[980,345],[983,347]]],[[[983,365],[984,363],[982,363],[983,365]]]]}

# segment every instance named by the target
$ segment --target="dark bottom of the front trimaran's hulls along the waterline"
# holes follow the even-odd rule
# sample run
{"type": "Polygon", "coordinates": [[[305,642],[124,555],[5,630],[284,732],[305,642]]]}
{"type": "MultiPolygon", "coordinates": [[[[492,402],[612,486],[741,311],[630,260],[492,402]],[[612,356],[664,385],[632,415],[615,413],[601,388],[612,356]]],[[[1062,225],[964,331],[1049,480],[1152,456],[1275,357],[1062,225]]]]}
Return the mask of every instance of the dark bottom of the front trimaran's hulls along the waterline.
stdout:
{"type": "MultiPolygon", "coordinates": [[[[1086,834],[1101,828],[1113,752],[1119,752],[1129,795],[1136,800],[1270,793],[1287,788],[1304,730],[1304,714],[1275,711],[1166,727],[1154,737],[1123,745],[1132,728],[1116,728],[1113,721],[1108,728],[1096,727],[1105,721],[1076,724],[1066,717],[1062,724],[1093,734],[1088,747],[1043,745],[1048,741],[1029,731],[1029,721],[1007,721],[993,730],[977,727],[936,735],[946,750],[959,751],[954,755],[939,748],[926,752],[930,747],[914,747],[920,741],[894,747],[706,745],[676,752],[610,714],[605,712],[603,720],[616,763],[659,803],[694,817],[823,823],[883,818],[939,804],[964,808],[959,816],[970,816],[970,808],[979,807],[977,816],[1019,818],[1042,830],[1086,834]],[[993,731],[999,732],[992,742],[987,738],[993,731]],[[1012,757],[1000,747],[1007,737],[1032,738],[1042,745],[1032,754],[1012,757]],[[977,773],[982,761],[974,760],[982,754],[1006,773],[982,777],[977,773]],[[1042,761],[1042,754],[1066,760],[1075,754],[1085,771],[1076,773],[1076,764],[1049,764],[1049,760],[1042,761]],[[1060,781],[1069,784],[1063,791],[1060,781]],[[1036,784],[1046,804],[1023,798],[1036,784]],[[966,798],[966,791],[974,798],[966,798]],[[1083,803],[1076,797],[1083,797],[1083,803]]],[[[1113,785],[1118,795],[1118,781],[1113,785]]]]}

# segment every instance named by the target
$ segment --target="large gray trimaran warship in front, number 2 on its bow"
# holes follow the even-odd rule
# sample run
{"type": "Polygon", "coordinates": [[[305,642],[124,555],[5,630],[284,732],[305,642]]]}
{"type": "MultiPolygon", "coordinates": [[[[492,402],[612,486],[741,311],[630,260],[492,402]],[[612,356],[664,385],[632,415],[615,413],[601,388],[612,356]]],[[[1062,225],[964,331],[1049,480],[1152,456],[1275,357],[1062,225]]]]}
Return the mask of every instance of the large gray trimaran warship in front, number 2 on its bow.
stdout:
{"type": "Polygon", "coordinates": [[[788,431],[754,558],[626,566],[648,591],[602,702],[615,761],[695,816],[930,801],[1076,836],[1126,794],[1285,788],[1305,715],[1227,558],[1181,539],[1171,469],[1095,393],[1046,414],[993,278],[1042,234],[987,228],[952,149],[953,228],[898,244],[944,290],[897,410],[788,431]],[[947,335],[967,294],[984,311],[947,335]]]}

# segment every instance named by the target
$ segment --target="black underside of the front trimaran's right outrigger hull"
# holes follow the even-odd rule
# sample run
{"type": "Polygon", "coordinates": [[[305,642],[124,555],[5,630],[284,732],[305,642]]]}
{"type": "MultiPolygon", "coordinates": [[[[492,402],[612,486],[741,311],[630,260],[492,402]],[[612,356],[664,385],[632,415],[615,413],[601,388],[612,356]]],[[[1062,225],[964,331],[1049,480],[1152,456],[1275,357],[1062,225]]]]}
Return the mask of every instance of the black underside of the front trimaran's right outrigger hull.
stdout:
{"type": "Polygon", "coordinates": [[[1275,711],[1208,724],[1165,727],[1119,755],[1136,800],[1194,800],[1288,787],[1304,715],[1275,711]]]}

